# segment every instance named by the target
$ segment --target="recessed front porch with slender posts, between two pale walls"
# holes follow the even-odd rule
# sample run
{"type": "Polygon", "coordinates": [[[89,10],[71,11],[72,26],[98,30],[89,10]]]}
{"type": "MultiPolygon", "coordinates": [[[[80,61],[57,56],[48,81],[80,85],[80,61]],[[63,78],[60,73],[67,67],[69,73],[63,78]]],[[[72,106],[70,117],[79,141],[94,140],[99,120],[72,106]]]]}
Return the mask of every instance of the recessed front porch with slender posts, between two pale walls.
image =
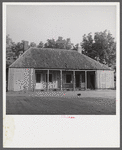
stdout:
{"type": "Polygon", "coordinates": [[[95,89],[95,71],[35,69],[34,90],[77,91],[95,89]]]}

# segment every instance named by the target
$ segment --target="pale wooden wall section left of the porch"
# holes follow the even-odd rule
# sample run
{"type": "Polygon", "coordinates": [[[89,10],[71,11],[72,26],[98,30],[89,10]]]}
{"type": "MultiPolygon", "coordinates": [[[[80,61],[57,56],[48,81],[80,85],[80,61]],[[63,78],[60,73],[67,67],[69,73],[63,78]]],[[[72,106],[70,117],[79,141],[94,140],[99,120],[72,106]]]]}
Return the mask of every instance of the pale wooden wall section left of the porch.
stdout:
{"type": "Polygon", "coordinates": [[[30,68],[9,68],[9,91],[21,91],[27,89],[33,90],[34,86],[34,69],[30,68]]]}

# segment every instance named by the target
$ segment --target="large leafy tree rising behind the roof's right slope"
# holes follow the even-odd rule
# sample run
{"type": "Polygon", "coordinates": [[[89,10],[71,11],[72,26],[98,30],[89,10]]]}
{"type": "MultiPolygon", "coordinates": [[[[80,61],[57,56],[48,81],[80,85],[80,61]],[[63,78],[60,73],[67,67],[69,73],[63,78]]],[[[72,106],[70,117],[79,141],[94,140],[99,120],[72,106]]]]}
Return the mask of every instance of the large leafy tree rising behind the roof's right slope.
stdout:
{"type": "Polygon", "coordinates": [[[108,66],[116,63],[116,42],[110,32],[96,32],[94,37],[89,33],[83,36],[81,43],[83,54],[108,66]]]}

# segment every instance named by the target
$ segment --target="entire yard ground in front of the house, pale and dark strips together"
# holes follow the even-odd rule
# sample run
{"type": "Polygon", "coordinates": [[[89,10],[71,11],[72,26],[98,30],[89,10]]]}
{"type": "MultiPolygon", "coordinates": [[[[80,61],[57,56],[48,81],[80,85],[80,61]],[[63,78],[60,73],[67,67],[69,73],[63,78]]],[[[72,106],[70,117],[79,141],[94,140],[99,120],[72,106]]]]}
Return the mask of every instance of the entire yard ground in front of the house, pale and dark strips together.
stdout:
{"type": "Polygon", "coordinates": [[[116,91],[7,92],[6,114],[115,115],[116,91]]]}

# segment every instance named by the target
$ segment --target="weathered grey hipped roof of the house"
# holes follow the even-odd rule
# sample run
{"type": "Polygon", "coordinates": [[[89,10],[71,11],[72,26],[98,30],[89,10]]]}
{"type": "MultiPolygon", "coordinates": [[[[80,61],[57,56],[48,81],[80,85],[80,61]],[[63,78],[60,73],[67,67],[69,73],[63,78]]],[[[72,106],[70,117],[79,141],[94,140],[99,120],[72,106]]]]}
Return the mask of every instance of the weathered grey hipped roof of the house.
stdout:
{"type": "Polygon", "coordinates": [[[109,67],[74,50],[30,48],[11,68],[110,70],[109,67]]]}

